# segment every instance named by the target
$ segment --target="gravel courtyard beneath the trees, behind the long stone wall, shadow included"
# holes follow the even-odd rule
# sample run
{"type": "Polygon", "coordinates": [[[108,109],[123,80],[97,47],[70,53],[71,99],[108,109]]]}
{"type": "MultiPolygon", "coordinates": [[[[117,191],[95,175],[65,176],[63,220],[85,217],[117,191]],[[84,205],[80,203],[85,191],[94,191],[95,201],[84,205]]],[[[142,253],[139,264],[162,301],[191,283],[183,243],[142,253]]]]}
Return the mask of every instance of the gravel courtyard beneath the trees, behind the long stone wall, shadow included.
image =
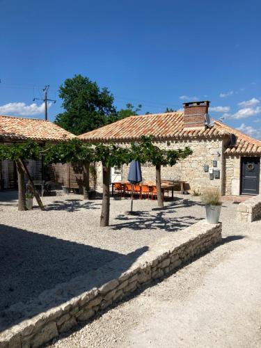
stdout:
{"type": "Polygon", "coordinates": [[[125,214],[129,199],[111,199],[111,226],[99,228],[101,199],[58,191],[43,197],[45,212],[37,206],[18,212],[17,193],[0,193],[0,311],[116,257],[139,255],[153,240],[204,216],[200,203],[177,196],[164,209],[156,201],[135,200],[139,216],[125,214]]]}

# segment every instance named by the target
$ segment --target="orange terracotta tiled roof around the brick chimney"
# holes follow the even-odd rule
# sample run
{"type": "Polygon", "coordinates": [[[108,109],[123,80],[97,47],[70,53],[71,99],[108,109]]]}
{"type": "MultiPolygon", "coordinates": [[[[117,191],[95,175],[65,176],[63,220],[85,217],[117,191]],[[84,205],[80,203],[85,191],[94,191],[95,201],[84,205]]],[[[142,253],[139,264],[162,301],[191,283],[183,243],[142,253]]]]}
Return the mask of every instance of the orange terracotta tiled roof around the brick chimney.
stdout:
{"type": "Polygon", "coordinates": [[[155,139],[180,139],[194,137],[223,137],[235,134],[237,144],[226,149],[226,153],[261,153],[261,141],[242,132],[214,121],[207,129],[184,130],[184,112],[157,113],[143,116],[129,116],[117,122],[81,134],[85,141],[133,141],[142,135],[152,135],[155,139]]]}

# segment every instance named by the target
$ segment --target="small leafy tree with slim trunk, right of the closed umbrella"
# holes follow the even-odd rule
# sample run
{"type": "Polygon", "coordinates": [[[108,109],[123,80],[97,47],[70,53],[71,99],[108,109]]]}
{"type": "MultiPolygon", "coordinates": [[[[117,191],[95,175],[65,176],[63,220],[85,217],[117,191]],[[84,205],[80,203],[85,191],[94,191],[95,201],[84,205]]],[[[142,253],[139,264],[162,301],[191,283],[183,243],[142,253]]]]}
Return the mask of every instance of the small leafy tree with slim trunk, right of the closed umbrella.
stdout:
{"type": "Polygon", "coordinates": [[[164,150],[152,143],[152,136],[141,136],[140,143],[132,144],[132,159],[139,160],[141,164],[150,162],[156,168],[157,201],[159,207],[163,207],[161,194],[161,166],[174,166],[177,161],[192,154],[188,147],[177,150],[164,150]]]}

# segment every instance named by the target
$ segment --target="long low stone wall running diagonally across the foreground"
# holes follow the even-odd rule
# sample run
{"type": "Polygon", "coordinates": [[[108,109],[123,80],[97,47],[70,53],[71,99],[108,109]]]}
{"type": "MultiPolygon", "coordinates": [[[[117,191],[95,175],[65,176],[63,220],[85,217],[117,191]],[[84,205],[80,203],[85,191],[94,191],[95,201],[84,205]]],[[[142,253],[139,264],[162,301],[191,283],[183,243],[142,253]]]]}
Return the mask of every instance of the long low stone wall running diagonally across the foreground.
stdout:
{"type": "Polygon", "coordinates": [[[31,319],[21,319],[20,324],[3,331],[0,335],[0,347],[39,347],[131,294],[141,285],[171,274],[182,264],[205,253],[221,241],[221,230],[221,223],[209,225],[205,220],[199,221],[189,228],[157,240],[135,260],[132,259],[133,256],[129,256],[129,260],[126,258],[124,262],[115,259],[105,267],[42,293],[30,304],[20,303],[18,307],[14,305],[10,308],[13,313],[17,308],[17,315],[21,315],[23,310],[31,319]],[[80,295],[72,296],[74,290],[80,295]],[[69,300],[57,306],[57,296],[69,300]],[[33,316],[35,307],[40,303],[49,309],[42,313],[38,309],[40,314],[33,316]]]}

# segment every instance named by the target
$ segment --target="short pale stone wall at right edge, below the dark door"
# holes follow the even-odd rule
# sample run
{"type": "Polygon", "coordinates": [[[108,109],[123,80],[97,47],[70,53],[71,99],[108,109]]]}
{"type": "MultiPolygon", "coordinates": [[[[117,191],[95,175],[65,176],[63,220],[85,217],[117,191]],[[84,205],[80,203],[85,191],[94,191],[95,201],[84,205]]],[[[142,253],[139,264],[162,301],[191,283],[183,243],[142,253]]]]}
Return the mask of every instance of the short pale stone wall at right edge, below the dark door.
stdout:
{"type": "Polygon", "coordinates": [[[252,222],[261,218],[261,195],[253,196],[237,207],[237,219],[252,222]]]}

